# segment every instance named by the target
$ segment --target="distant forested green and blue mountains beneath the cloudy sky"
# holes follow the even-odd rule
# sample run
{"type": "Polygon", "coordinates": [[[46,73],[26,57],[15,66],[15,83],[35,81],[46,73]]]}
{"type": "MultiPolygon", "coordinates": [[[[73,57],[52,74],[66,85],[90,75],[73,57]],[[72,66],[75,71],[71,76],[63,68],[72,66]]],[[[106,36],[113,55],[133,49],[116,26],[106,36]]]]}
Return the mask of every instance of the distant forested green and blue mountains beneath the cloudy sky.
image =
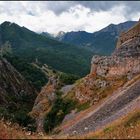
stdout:
{"type": "Polygon", "coordinates": [[[83,76],[89,72],[94,54],[110,55],[121,31],[132,27],[136,21],[118,25],[110,24],[95,32],[59,32],[38,34],[15,23],[0,25],[0,44],[9,41],[14,55],[32,63],[36,60],[65,73],[83,76]]]}

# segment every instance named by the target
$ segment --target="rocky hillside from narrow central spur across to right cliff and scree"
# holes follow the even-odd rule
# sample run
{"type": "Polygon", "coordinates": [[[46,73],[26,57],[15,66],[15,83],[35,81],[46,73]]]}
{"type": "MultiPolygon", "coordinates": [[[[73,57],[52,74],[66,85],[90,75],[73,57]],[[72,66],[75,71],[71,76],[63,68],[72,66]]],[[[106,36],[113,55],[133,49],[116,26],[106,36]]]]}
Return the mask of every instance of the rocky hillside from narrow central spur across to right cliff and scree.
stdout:
{"type": "Polygon", "coordinates": [[[38,132],[84,135],[139,108],[139,25],[119,37],[111,56],[93,56],[90,73],[73,85],[50,75],[30,112],[38,132]]]}

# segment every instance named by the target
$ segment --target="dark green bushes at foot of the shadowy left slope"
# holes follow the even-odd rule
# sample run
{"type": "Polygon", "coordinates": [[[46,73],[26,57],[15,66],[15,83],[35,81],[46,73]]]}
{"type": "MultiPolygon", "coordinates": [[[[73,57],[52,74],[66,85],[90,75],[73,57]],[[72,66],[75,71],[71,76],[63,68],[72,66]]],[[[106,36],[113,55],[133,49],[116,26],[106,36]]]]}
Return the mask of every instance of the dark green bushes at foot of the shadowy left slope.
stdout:
{"type": "Polygon", "coordinates": [[[0,118],[10,120],[11,122],[18,123],[22,127],[26,127],[27,130],[35,131],[35,120],[32,119],[28,113],[32,109],[35,96],[25,94],[23,96],[12,96],[12,101],[6,107],[0,106],[0,118]]]}

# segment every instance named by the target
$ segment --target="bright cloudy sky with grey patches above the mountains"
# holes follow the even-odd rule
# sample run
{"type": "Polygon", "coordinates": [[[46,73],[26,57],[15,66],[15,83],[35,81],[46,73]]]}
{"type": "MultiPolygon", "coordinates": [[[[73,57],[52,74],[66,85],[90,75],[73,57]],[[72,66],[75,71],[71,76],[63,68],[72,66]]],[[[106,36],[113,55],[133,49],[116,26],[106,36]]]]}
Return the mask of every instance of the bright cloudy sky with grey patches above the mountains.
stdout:
{"type": "Polygon", "coordinates": [[[0,1],[0,24],[15,22],[35,32],[95,32],[140,18],[140,1],[0,1]]]}

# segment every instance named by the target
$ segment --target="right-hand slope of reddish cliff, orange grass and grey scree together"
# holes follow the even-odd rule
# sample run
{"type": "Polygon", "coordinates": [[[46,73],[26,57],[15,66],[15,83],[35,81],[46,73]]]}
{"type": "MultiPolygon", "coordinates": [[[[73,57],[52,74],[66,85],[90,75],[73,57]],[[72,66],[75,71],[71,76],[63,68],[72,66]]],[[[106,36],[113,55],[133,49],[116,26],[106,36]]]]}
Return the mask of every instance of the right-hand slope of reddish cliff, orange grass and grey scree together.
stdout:
{"type": "Polygon", "coordinates": [[[139,110],[139,60],[140,22],[120,35],[111,56],[94,56],[90,74],[67,93],[67,98],[92,104],[87,111],[75,113],[64,122],[59,127],[62,134],[81,135],[96,131],[132,110],[139,110]],[[122,83],[119,80],[118,85],[117,79],[122,83]],[[112,89],[114,84],[118,86],[112,89]]]}

